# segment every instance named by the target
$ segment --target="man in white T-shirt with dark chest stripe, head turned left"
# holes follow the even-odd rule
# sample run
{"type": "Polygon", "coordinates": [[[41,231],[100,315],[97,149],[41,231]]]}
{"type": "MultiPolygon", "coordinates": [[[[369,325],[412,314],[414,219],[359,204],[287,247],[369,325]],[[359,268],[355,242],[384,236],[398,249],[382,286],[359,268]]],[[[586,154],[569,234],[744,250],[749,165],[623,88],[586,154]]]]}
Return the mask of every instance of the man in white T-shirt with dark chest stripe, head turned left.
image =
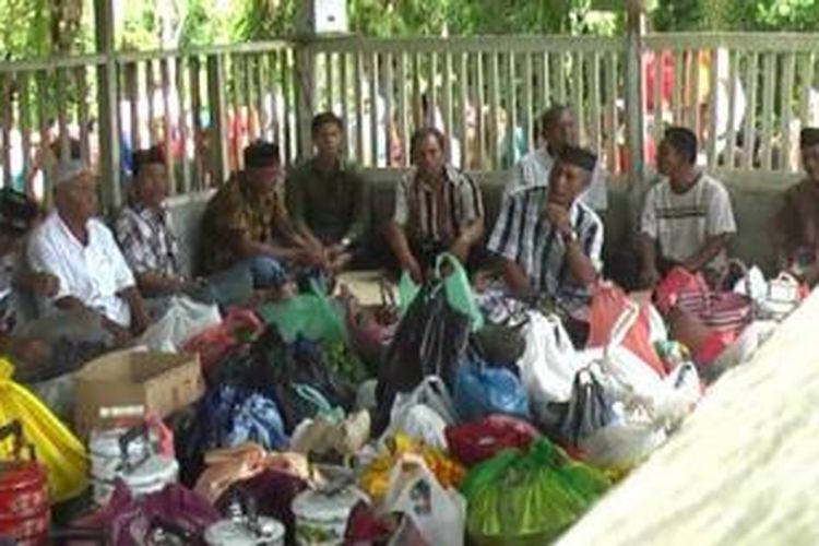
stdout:
{"type": "Polygon", "coordinates": [[[708,278],[725,265],[725,245],[736,233],[731,198],[696,162],[693,132],[668,128],[657,151],[657,170],[667,180],[649,190],[640,221],[645,287],[653,287],[673,266],[703,272],[708,278]]]}

